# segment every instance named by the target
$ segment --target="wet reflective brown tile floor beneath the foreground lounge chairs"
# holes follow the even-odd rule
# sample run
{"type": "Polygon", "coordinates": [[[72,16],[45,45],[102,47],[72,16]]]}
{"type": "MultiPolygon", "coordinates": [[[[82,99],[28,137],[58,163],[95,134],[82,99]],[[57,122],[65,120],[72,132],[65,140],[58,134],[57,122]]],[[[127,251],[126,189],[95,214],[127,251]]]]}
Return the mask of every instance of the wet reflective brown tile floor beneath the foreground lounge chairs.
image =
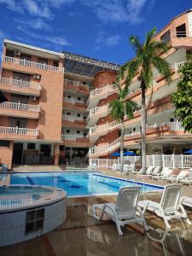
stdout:
{"type": "MultiPolygon", "coordinates": [[[[151,196],[157,200],[157,196],[151,196]]],[[[143,199],[143,198],[142,198],[143,199]]],[[[94,203],[114,201],[112,196],[67,200],[67,220],[45,236],[0,247],[1,256],[160,256],[192,255],[192,227],[172,221],[167,231],[160,218],[147,213],[150,230],[144,232],[139,224],[126,225],[124,236],[119,236],[115,224],[108,220],[98,222],[91,216],[94,203]]],[[[187,210],[189,218],[192,212],[187,210]]]]}

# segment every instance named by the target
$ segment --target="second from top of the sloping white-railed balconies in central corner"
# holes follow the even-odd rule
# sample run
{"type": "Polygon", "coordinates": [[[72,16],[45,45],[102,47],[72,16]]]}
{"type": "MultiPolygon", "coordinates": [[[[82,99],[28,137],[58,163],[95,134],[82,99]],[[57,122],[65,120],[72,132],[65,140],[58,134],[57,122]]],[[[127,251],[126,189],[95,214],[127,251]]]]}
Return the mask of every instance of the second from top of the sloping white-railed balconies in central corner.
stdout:
{"type": "Polygon", "coordinates": [[[96,107],[90,109],[90,113],[87,117],[87,126],[93,126],[96,124],[97,120],[108,115],[109,104],[103,105],[102,107],[96,107]]]}

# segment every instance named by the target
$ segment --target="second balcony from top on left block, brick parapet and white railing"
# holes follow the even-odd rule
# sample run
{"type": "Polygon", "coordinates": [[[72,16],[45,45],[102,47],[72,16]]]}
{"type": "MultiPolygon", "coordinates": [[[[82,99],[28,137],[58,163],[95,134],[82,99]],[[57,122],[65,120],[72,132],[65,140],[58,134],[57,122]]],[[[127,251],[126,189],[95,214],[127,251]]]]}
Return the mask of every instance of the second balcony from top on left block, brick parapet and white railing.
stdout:
{"type": "Polygon", "coordinates": [[[40,96],[41,84],[0,77],[0,90],[29,96],[40,96]]]}

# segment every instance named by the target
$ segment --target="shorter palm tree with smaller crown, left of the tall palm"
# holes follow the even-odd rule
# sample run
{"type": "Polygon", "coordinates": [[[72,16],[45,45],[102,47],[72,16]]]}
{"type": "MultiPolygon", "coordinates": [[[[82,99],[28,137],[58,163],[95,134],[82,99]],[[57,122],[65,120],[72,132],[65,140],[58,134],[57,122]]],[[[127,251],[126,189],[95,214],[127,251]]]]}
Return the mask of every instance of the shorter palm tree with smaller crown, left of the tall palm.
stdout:
{"type": "Polygon", "coordinates": [[[120,171],[123,172],[124,164],[124,135],[125,135],[125,125],[124,117],[127,115],[129,119],[133,118],[133,111],[137,104],[135,102],[127,101],[125,102],[125,96],[128,94],[128,87],[121,88],[119,85],[119,96],[113,102],[110,102],[109,109],[110,115],[113,119],[119,121],[121,124],[121,141],[120,141],[120,171]]]}

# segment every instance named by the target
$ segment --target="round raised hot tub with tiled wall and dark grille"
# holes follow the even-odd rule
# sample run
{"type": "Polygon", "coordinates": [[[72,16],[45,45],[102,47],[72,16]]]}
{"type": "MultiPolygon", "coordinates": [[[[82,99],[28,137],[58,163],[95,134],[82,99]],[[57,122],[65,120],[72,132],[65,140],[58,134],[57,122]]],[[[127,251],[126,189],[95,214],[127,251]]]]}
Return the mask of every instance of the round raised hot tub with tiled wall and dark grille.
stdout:
{"type": "Polygon", "coordinates": [[[67,193],[46,186],[0,186],[0,247],[42,236],[66,219],[67,193]]]}

